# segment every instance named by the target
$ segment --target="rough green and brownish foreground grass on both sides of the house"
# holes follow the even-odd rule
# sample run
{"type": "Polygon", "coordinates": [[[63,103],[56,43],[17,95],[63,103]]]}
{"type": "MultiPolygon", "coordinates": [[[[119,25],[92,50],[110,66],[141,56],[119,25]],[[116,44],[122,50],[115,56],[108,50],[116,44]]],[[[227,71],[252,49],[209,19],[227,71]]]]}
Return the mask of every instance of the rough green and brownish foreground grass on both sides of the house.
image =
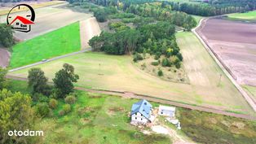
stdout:
{"type": "MultiPolygon", "coordinates": [[[[21,90],[29,94],[25,81],[10,81],[11,91],[21,90]]],[[[58,107],[48,118],[38,123],[45,136],[38,143],[111,143],[148,144],[171,143],[173,137],[165,135],[144,135],[129,124],[128,113],[137,99],[120,98],[105,94],[76,91],[77,102],[66,116],[59,116],[64,101],[59,99],[58,107]],[[81,112],[81,109],[85,111],[81,112]],[[80,112],[79,112],[80,111],[80,112]]],[[[159,103],[152,103],[158,107],[159,103]]],[[[200,143],[246,143],[256,142],[256,122],[230,116],[222,116],[177,107],[176,116],[182,130],[176,130],[181,137],[190,137],[200,143]],[[185,134],[185,135],[184,135],[185,134]]],[[[164,121],[160,119],[161,121],[164,121]]],[[[167,123],[171,129],[174,125],[167,123]]]]}

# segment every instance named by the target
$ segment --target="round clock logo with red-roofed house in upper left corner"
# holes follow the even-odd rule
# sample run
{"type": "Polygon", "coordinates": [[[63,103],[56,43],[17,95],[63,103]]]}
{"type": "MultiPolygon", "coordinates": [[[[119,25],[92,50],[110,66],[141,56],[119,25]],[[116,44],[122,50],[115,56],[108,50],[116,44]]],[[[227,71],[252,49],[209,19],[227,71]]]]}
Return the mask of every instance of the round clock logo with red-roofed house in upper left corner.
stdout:
{"type": "Polygon", "coordinates": [[[28,33],[31,31],[31,24],[34,24],[35,11],[27,4],[19,4],[11,9],[7,15],[7,25],[15,31],[28,33]],[[21,11],[21,12],[16,12],[21,11]]]}

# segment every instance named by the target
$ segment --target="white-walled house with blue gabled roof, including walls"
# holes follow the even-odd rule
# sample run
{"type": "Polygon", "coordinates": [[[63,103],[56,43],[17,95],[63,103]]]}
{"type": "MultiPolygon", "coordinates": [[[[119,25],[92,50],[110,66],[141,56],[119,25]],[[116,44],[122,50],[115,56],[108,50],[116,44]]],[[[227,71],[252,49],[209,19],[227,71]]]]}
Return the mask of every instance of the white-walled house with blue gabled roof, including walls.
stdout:
{"type": "Polygon", "coordinates": [[[152,105],[147,100],[140,100],[131,107],[131,124],[147,124],[152,120],[152,105]]]}

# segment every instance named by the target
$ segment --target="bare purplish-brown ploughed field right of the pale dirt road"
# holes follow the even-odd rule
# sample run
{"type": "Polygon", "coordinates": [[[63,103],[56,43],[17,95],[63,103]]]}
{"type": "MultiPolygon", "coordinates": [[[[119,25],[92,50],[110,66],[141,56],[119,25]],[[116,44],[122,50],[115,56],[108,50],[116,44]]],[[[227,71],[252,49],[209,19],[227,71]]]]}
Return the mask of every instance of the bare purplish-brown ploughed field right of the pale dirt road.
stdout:
{"type": "Polygon", "coordinates": [[[197,33],[239,84],[256,86],[256,24],[214,18],[197,33]]]}

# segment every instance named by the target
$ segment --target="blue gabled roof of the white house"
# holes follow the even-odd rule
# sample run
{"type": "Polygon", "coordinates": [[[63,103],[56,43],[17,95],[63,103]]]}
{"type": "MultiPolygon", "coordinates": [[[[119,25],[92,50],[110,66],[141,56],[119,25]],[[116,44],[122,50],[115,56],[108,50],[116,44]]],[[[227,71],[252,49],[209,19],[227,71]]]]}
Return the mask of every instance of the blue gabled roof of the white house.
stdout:
{"type": "Polygon", "coordinates": [[[148,103],[148,101],[143,99],[143,100],[140,100],[138,103],[135,103],[132,105],[130,114],[133,115],[136,112],[139,112],[143,116],[145,116],[147,119],[149,119],[151,108],[152,108],[152,105],[148,103]]]}

